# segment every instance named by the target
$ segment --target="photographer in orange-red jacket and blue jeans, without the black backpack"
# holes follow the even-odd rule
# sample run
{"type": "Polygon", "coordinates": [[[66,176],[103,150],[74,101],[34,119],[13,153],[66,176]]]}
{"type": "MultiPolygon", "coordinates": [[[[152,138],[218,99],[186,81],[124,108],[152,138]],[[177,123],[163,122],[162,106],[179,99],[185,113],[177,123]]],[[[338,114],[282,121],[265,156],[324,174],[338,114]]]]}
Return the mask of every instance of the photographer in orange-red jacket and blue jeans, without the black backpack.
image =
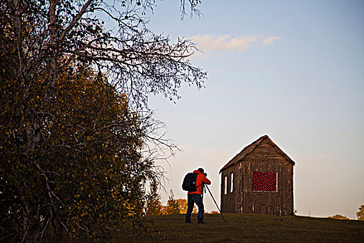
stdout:
{"type": "Polygon", "coordinates": [[[193,171],[193,173],[197,174],[196,178],[196,192],[188,192],[187,193],[187,213],[186,213],[186,223],[191,223],[191,213],[193,211],[193,206],[196,203],[198,206],[198,215],[197,215],[197,221],[198,224],[205,224],[203,221],[203,214],[204,214],[204,206],[202,203],[202,189],[203,189],[203,183],[206,183],[207,185],[211,184],[211,181],[206,178],[207,174],[204,174],[204,169],[199,168],[198,170],[193,171]]]}

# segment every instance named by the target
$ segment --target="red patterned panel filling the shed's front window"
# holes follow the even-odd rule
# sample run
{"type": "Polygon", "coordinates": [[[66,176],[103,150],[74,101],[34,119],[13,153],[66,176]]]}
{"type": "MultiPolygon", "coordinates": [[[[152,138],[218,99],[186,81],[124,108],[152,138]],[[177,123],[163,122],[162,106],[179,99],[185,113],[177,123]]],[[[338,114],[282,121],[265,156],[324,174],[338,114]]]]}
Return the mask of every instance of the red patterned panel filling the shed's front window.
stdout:
{"type": "Polygon", "coordinates": [[[277,173],[252,172],[253,192],[277,192],[277,173]]]}

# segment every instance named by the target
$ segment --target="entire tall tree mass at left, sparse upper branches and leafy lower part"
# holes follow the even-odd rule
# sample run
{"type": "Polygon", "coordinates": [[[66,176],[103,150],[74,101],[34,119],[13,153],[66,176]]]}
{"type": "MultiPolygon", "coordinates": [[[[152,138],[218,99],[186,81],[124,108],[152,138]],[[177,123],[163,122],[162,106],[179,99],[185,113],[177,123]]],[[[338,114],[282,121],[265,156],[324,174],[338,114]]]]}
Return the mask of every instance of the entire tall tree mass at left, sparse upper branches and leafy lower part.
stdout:
{"type": "Polygon", "coordinates": [[[0,240],[96,240],[142,215],[144,184],[160,176],[148,142],[173,149],[154,135],[148,95],[175,100],[206,77],[188,61],[192,42],[148,30],[152,8],[1,1],[0,240]]]}

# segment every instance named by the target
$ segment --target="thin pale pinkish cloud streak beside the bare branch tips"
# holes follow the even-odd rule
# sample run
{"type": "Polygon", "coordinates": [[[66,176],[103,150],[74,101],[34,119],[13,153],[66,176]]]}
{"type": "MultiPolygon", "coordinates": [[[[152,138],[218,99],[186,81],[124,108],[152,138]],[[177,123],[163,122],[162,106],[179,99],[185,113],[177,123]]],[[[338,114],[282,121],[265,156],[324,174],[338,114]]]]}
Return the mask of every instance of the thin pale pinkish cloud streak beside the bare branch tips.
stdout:
{"type": "MultiPolygon", "coordinates": [[[[202,52],[207,51],[237,51],[242,52],[249,47],[265,46],[272,44],[276,40],[281,39],[280,36],[270,35],[264,37],[262,35],[242,35],[238,37],[232,37],[231,35],[195,35],[190,38],[196,47],[202,52]]],[[[200,55],[198,55],[200,56],[200,55]]],[[[197,56],[195,56],[196,58],[197,56]]]]}

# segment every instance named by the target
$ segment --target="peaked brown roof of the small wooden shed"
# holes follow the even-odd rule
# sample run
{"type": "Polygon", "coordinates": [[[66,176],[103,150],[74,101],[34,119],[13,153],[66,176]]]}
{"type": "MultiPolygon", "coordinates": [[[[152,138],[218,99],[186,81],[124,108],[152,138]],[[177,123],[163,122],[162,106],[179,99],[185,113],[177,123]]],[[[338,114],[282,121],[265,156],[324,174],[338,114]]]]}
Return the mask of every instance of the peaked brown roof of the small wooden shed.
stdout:
{"type": "Polygon", "coordinates": [[[244,160],[244,158],[246,156],[248,156],[250,153],[252,153],[252,151],[254,151],[254,149],[257,148],[257,146],[259,146],[259,144],[261,144],[261,142],[263,142],[264,140],[267,140],[270,144],[272,144],[272,146],[275,146],[277,148],[278,153],[280,153],[281,156],[283,156],[284,158],[286,158],[286,160],[288,162],[291,162],[293,165],[295,165],[295,162],[293,160],[291,160],[291,158],[289,158],[286,155],[286,153],[284,153],[284,151],[282,151],[281,149],[279,149],[279,147],[277,146],[277,144],[275,144],[272,140],[270,140],[270,138],[268,137],[268,135],[264,135],[263,137],[259,137],[258,140],[252,142],[252,144],[250,144],[248,146],[245,146],[245,148],[240,153],[238,153],[236,156],[234,156],[234,158],[232,158],[232,160],[230,160],[229,162],[227,162],[227,164],[223,168],[220,169],[220,172],[223,171],[224,169],[227,169],[228,167],[230,167],[232,165],[236,165],[241,160],[244,160]]]}

